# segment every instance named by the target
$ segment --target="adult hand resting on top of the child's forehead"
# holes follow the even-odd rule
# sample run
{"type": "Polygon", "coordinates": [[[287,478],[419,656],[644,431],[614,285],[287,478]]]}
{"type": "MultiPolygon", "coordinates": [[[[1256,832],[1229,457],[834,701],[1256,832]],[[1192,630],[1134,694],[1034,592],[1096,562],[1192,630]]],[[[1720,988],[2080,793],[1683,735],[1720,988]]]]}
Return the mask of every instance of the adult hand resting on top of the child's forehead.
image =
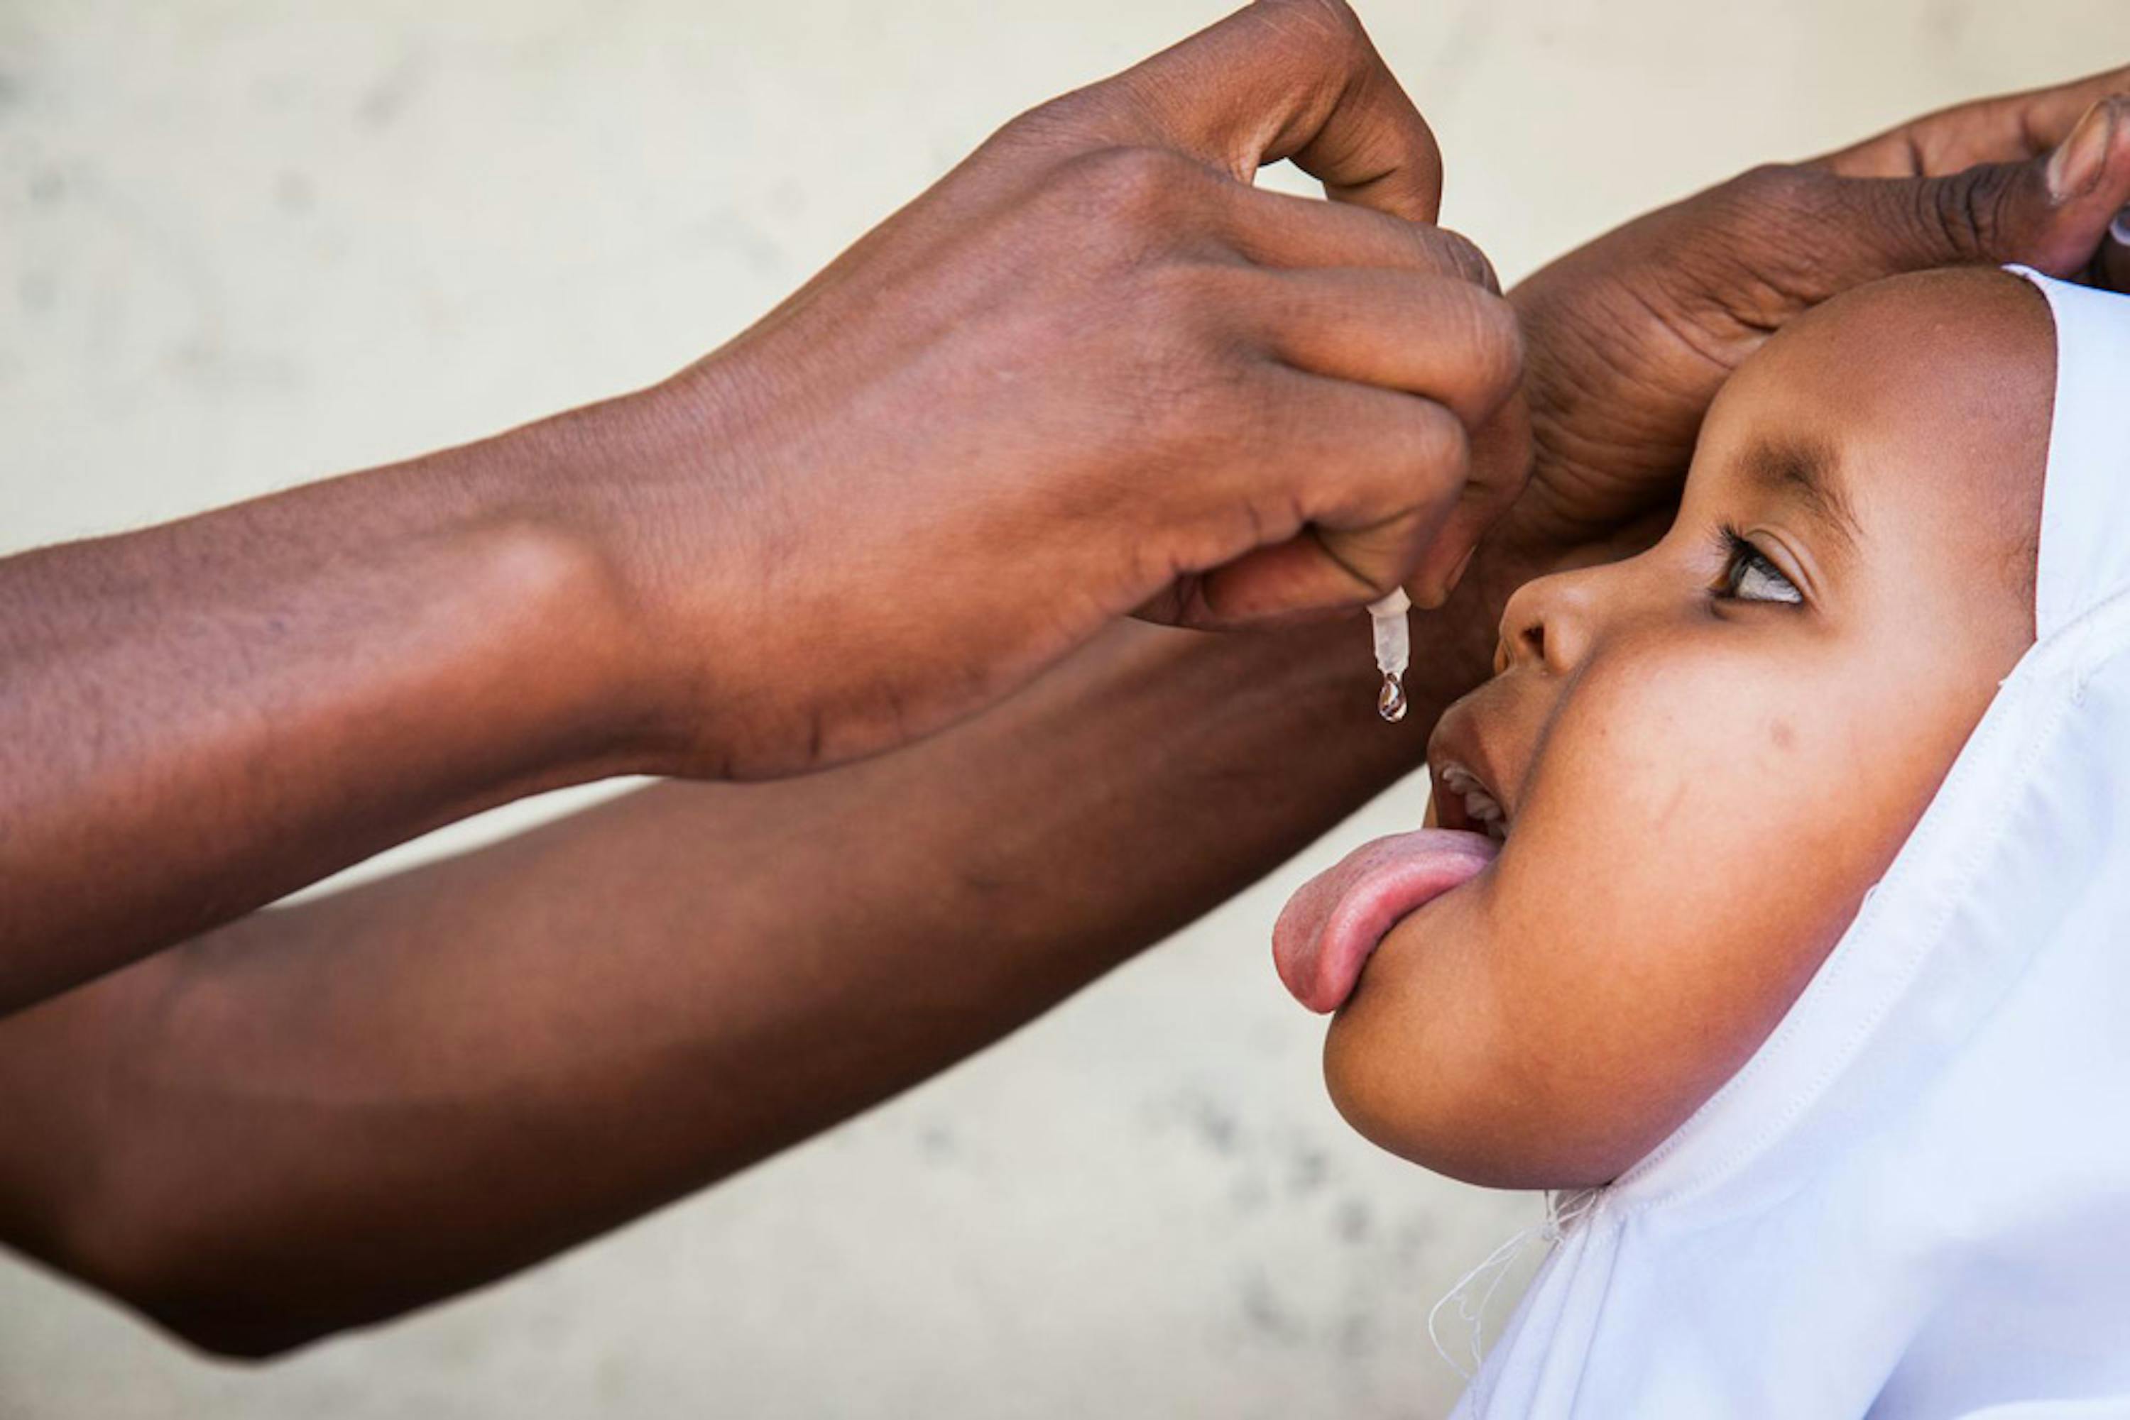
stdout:
{"type": "Polygon", "coordinates": [[[1519,285],[1536,462],[1504,539],[1544,562],[1666,511],[1723,379],[1838,292],[1970,262],[2085,273],[2130,202],[2124,94],[2130,68],[1755,168],[1519,285]]]}

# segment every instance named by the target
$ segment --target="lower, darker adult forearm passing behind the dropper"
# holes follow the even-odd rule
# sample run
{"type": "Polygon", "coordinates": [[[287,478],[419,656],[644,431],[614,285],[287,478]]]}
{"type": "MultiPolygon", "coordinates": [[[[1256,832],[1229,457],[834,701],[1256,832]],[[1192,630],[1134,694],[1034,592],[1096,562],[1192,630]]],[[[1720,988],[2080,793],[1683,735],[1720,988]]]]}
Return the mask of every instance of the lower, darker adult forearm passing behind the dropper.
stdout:
{"type": "Polygon", "coordinates": [[[1421,620],[1404,726],[1374,717],[1363,624],[1125,626],[901,754],[660,786],[224,928],[0,1030],[0,1226],[234,1350],[524,1267],[1278,864],[1419,762],[1485,673],[1480,600],[1421,620]]]}

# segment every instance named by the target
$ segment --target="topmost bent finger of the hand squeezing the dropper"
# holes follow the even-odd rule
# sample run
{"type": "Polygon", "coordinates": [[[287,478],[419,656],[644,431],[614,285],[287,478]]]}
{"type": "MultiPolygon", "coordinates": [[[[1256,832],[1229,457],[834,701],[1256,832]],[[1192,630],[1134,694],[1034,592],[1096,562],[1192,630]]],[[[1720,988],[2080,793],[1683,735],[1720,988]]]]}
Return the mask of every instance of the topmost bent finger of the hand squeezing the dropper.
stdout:
{"type": "Polygon", "coordinates": [[[1080,94],[1118,143],[1248,183],[1289,158],[1325,196],[1408,221],[1442,207],[1442,151],[1344,0],[1257,0],[1080,94]]]}

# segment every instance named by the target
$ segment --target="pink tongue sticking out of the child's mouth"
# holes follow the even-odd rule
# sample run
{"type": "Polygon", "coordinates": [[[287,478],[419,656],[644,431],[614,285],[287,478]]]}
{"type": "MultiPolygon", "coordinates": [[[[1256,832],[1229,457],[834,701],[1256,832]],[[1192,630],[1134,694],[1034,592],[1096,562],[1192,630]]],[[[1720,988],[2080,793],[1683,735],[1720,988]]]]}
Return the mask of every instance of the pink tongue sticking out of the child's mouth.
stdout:
{"type": "Polygon", "coordinates": [[[1453,828],[1363,843],[1287,901],[1272,928],[1280,981],[1312,1011],[1340,1009],[1370,952],[1399,918],[1474,877],[1497,852],[1487,835],[1453,828]]]}

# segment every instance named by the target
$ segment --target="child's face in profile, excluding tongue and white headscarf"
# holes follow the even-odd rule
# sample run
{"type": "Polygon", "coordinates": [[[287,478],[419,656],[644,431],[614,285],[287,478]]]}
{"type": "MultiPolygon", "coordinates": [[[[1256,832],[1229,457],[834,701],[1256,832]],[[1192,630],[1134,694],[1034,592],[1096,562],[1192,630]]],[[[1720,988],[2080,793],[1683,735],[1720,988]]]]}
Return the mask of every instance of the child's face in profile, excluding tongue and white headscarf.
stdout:
{"type": "Polygon", "coordinates": [[[1508,837],[1331,1028],[1361,1133],[1600,1184],[1766,1039],[2032,641],[2053,366],[2004,273],[1836,300],[1725,385],[1661,543],[1510,600],[1427,756],[1440,826],[1476,779],[1508,837]]]}

